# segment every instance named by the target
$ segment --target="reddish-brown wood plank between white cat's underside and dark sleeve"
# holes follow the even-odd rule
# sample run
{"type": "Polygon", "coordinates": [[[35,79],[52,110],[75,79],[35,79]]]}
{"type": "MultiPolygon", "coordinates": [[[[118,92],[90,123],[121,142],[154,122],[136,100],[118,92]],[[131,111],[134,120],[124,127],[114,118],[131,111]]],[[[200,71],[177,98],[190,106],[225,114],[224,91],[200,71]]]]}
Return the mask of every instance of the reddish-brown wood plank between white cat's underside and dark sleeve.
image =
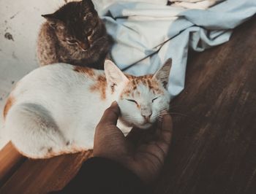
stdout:
{"type": "Polygon", "coordinates": [[[0,189],[0,193],[48,193],[60,190],[78,172],[92,151],[45,160],[26,160],[0,189]]]}

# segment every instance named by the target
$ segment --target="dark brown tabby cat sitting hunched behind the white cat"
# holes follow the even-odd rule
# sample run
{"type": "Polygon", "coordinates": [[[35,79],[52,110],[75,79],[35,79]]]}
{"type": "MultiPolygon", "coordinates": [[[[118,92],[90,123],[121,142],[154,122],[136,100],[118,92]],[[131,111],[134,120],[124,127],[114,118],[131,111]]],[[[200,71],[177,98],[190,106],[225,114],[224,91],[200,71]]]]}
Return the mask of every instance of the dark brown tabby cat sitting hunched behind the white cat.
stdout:
{"type": "Polygon", "coordinates": [[[91,0],[69,2],[42,17],[47,21],[37,42],[41,66],[62,62],[103,69],[113,40],[91,0]]]}

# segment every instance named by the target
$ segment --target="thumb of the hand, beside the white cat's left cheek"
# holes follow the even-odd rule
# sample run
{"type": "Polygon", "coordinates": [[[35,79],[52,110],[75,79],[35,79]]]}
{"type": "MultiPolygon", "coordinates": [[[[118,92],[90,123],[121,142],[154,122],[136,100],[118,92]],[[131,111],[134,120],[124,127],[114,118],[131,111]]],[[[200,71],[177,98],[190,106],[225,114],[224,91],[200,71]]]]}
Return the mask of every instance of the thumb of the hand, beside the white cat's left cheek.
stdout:
{"type": "Polygon", "coordinates": [[[120,109],[116,101],[113,101],[111,106],[105,110],[99,125],[116,125],[118,117],[120,115],[120,109]]]}

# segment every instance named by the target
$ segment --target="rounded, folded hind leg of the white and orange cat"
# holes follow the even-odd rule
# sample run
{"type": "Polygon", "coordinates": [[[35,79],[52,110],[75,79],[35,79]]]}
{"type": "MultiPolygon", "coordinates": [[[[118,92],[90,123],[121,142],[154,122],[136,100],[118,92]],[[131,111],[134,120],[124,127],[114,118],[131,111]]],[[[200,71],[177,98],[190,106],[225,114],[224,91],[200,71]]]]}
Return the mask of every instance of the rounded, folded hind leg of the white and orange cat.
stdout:
{"type": "Polygon", "coordinates": [[[12,144],[28,158],[50,158],[65,152],[67,147],[50,112],[39,104],[15,104],[4,125],[12,144]]]}

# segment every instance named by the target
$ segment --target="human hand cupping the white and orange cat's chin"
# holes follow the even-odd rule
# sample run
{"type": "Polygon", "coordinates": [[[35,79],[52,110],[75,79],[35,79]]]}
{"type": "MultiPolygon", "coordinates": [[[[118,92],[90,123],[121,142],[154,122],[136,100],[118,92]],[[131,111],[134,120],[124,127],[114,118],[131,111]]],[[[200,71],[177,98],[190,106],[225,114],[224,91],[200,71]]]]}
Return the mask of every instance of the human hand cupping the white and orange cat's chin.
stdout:
{"type": "Polygon", "coordinates": [[[164,164],[172,135],[172,119],[164,115],[151,129],[133,128],[125,137],[116,127],[119,115],[116,102],[105,110],[95,131],[94,156],[115,160],[149,183],[164,164]]]}

